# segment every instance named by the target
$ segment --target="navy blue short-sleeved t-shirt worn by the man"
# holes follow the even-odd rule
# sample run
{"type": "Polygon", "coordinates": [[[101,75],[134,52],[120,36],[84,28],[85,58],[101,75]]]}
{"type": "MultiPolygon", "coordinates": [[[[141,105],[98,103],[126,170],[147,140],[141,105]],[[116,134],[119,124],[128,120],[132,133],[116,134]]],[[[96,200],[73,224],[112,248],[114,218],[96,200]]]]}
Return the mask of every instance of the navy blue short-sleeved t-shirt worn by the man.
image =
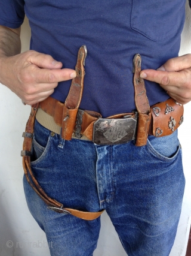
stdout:
{"type": "MultiPolygon", "coordinates": [[[[133,58],[142,69],[159,68],[178,56],[185,0],[1,0],[0,24],[18,28],[29,19],[30,49],[75,68],[78,49],[86,45],[81,109],[103,117],[135,109],[133,58]]],[[[61,82],[52,97],[64,102],[71,81],[61,82]]],[[[147,82],[150,106],[168,98],[147,82]]]]}

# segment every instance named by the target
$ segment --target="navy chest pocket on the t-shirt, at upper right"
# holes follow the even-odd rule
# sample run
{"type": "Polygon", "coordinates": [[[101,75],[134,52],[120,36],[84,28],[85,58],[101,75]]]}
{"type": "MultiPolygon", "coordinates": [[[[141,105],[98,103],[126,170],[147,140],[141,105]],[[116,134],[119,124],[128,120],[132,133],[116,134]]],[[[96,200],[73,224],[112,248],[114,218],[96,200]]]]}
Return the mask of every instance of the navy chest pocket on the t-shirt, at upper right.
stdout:
{"type": "Polygon", "coordinates": [[[183,0],[133,0],[131,28],[153,41],[180,32],[184,23],[183,0]]]}

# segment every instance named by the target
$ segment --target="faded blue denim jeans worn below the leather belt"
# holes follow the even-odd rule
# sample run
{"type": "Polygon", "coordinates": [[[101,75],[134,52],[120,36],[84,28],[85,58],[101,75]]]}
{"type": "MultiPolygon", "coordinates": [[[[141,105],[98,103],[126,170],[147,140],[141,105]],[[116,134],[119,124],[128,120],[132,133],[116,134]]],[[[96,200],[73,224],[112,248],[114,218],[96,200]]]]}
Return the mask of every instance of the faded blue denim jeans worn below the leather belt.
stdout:
{"type": "MultiPolygon", "coordinates": [[[[134,141],[98,146],[64,141],[35,122],[31,167],[47,194],[64,207],[106,209],[129,256],[167,256],[177,231],[184,192],[177,131],[147,145],[134,141]]],[[[52,256],[90,256],[97,246],[100,218],[85,221],[47,209],[24,177],[30,212],[51,243],[52,256]]]]}

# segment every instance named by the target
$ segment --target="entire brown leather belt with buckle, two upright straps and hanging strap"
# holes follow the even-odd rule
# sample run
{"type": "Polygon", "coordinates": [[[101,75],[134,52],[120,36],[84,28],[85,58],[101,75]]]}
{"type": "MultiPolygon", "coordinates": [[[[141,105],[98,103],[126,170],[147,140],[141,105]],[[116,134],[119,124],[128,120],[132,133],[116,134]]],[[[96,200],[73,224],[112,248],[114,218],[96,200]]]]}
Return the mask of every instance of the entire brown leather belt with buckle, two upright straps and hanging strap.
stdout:
{"type": "Polygon", "coordinates": [[[38,108],[47,115],[53,117],[58,127],[61,127],[61,137],[71,140],[73,134],[76,138],[85,135],[88,139],[97,144],[119,144],[127,143],[135,138],[136,146],[144,146],[147,142],[147,135],[156,137],[169,135],[183,122],[183,106],[171,98],[164,103],[149,106],[146,96],[144,80],[140,77],[141,56],[135,55],[134,63],[134,89],[135,106],[137,112],[123,113],[109,118],[101,118],[96,112],[79,110],[82,91],[84,88],[84,65],[87,56],[87,49],[82,46],[78,52],[76,64],[77,76],[72,80],[69,95],[65,103],[61,103],[51,97],[42,103],[32,106],[26,130],[23,133],[24,143],[21,156],[23,156],[23,168],[26,179],[30,186],[48,205],[48,208],[59,213],[68,213],[78,218],[92,220],[101,215],[101,212],[82,212],[75,209],[64,208],[63,204],[48,197],[36,180],[30,168],[30,155],[32,149],[32,134],[35,122],[35,115],[38,108]]]}

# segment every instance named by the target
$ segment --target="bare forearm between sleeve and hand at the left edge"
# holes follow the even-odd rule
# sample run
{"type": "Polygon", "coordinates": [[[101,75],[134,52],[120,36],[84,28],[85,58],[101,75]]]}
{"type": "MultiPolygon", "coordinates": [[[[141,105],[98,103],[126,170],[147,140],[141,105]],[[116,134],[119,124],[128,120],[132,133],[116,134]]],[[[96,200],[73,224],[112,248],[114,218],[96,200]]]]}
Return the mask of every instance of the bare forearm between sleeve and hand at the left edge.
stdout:
{"type": "Polygon", "coordinates": [[[20,28],[10,29],[0,26],[0,62],[1,58],[17,55],[20,51],[20,28]]]}

